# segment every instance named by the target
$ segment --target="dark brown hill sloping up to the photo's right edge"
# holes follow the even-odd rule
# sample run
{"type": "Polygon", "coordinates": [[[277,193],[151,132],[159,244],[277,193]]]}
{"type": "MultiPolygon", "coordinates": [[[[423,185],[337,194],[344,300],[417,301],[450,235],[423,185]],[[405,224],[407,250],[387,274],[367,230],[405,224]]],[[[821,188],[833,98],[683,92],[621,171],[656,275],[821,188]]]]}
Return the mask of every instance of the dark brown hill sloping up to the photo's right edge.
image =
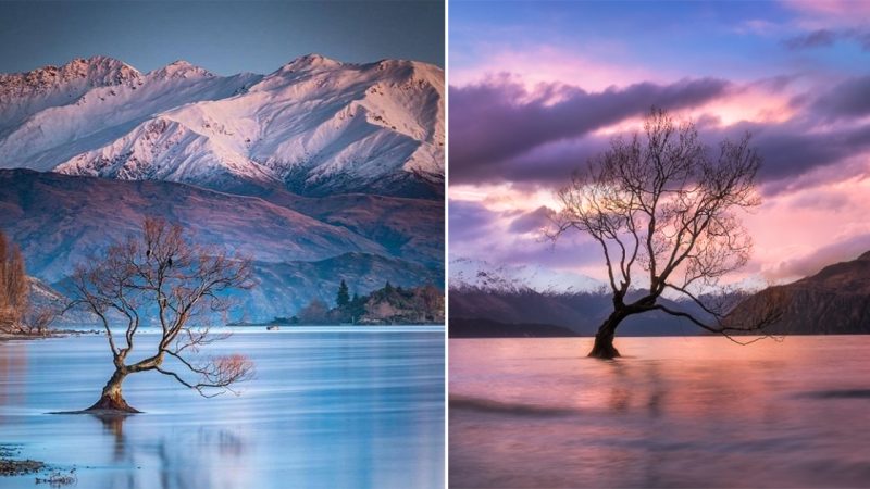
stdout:
{"type": "Polygon", "coordinates": [[[758,314],[772,294],[784,301],[782,319],[765,331],[775,335],[870,334],[870,252],[836,263],[793,284],[771,287],[742,302],[729,316],[758,314]]]}

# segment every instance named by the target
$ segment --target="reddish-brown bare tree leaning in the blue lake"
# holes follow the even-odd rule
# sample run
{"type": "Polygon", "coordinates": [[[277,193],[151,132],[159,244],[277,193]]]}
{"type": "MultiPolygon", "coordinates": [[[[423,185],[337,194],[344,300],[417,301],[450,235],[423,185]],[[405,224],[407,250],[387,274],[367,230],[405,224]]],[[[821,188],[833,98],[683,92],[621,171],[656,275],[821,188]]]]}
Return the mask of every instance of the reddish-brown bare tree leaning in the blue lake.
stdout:
{"type": "Polygon", "coordinates": [[[227,337],[210,334],[204,322],[204,316],[228,309],[222,292],[249,286],[247,260],[194,244],[179,225],[160,218],[146,218],[141,236],[114,243],[103,256],[79,266],[67,309],[84,306],[100,319],[115,366],[100,399],[86,411],[138,412],[124,400],[121,386],[139,372],[167,375],[204,397],[232,391],[233,384],[249,378],[252,364],[240,354],[196,355],[200,347],[227,337]],[[148,344],[152,350],[145,358],[130,361],[136,334],[149,321],[160,326],[157,344],[148,344]],[[122,338],[110,328],[119,322],[125,328],[122,338]],[[174,367],[164,363],[170,359],[174,367]]]}

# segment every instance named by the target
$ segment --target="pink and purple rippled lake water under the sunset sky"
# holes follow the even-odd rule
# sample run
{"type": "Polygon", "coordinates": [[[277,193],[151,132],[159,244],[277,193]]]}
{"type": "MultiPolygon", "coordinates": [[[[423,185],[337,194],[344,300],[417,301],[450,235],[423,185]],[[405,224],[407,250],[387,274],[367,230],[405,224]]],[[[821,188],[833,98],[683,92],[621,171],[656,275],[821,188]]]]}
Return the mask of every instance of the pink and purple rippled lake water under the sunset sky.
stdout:
{"type": "Polygon", "coordinates": [[[870,337],[450,340],[450,487],[870,487],[870,337]]]}

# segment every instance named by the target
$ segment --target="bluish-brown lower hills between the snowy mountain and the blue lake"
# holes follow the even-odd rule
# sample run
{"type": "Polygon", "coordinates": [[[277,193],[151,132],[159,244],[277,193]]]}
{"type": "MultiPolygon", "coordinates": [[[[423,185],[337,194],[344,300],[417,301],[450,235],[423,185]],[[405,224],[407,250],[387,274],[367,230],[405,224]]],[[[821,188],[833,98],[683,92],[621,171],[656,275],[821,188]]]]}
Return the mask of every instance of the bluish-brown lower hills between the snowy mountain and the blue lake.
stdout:
{"type": "Polygon", "coordinates": [[[233,319],[295,314],[314,298],[333,298],[341,279],[360,294],[386,280],[444,284],[438,201],[286,190],[260,198],[171,181],[0,170],[0,228],[21,246],[27,272],[61,291],[76,264],[138,233],[148,215],[253,259],[259,287],[239,298],[233,319]]]}

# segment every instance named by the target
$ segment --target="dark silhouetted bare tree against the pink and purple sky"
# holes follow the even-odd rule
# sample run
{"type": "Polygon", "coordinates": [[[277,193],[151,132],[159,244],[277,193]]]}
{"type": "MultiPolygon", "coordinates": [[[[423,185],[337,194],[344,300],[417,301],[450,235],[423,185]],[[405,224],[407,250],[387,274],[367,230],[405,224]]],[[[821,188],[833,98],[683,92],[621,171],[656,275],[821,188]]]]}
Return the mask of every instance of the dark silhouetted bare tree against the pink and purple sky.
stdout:
{"type": "Polygon", "coordinates": [[[761,203],[755,186],[761,158],[749,139],[747,134],[736,142],[723,140],[713,154],[693,123],[676,123],[654,109],[643,136],[614,138],[557,192],[561,210],[549,237],[557,240],[574,229],[597,241],[612,292],[613,310],[598,328],[589,356],[619,356],[613,336],[634,314],[661,311],[729,338],[781,316],[781,309],[770,304],[738,324],[728,317],[735,304],[721,300],[726,296],[701,293],[716,290],[721,277],[749,259],[751,239],[735,212],[761,203]],[[632,287],[638,280],[639,293],[632,287]],[[703,313],[660,303],[666,291],[703,313]]]}

